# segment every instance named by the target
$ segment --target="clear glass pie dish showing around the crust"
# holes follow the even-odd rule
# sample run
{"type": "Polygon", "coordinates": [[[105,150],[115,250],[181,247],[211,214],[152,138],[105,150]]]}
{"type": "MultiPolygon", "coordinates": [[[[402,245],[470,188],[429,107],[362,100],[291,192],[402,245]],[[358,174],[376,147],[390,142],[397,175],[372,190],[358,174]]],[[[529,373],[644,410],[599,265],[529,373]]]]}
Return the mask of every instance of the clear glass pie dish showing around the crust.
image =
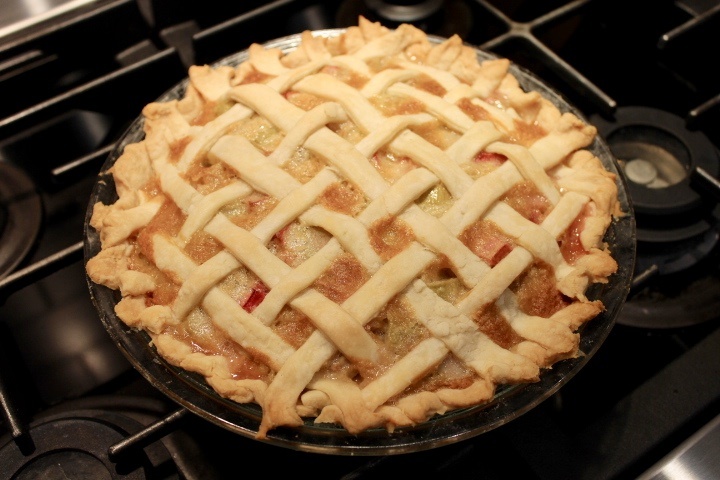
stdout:
{"type": "MultiPolygon", "coordinates": [[[[343,30],[339,29],[323,30],[313,34],[332,37],[342,32],[343,30]]],[[[444,40],[437,37],[429,38],[433,43],[441,43],[444,40]]],[[[300,42],[300,35],[292,35],[268,42],[263,46],[287,53],[296,49],[300,42]]],[[[476,50],[476,54],[479,59],[495,58],[480,50],[476,50]]],[[[221,60],[214,66],[236,66],[248,57],[248,51],[242,51],[221,60]]],[[[571,112],[582,118],[580,112],[531,72],[517,65],[512,65],[510,71],[525,90],[540,92],[561,112],[571,112]]],[[[158,102],[182,98],[187,86],[188,80],[179,83],[160,97],[158,102]]],[[[125,146],[143,139],[143,124],[144,120],[138,118],[130,126],[103,165],[86,215],[86,262],[101,249],[99,236],[90,226],[93,206],[98,202],[111,204],[117,198],[113,177],[108,173],[109,169],[125,146]]],[[[307,420],[299,427],[273,429],[262,441],[301,451],[339,455],[387,455],[420,451],[457,442],[497,428],[529,411],[569,381],[600,348],[612,329],[615,317],[630,287],[635,256],[632,207],[615,159],[601,138],[596,137],[587,149],[601,160],[608,171],[615,174],[620,207],[625,214],[613,220],[605,235],[605,242],[618,264],[618,271],[609,278],[608,283],[594,284],[586,292],[589,299],[601,300],[605,309],[581,327],[580,355],[561,360],[551,369],[543,370],[537,382],[498,387],[495,396],[486,404],[452,410],[411,427],[398,427],[392,432],[384,428],[372,428],[359,434],[352,434],[340,426],[318,424],[307,420]]],[[[115,305],[120,300],[117,291],[98,285],[89,278],[88,285],[92,300],[109,334],[133,366],[153,386],[196,415],[240,435],[256,438],[262,420],[262,410],[258,405],[238,404],[224,398],[200,375],[169,364],[158,355],[148,334],[129,327],[117,317],[115,305]]]]}

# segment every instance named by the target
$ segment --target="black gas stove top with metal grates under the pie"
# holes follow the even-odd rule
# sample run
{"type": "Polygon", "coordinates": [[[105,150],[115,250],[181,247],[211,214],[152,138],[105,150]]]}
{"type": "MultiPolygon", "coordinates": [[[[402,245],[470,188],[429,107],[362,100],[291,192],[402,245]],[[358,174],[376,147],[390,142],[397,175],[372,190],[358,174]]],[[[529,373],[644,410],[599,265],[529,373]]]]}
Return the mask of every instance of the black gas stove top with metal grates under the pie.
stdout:
{"type": "Polygon", "coordinates": [[[279,474],[322,462],[327,478],[462,477],[480,466],[486,478],[635,478],[720,413],[720,79],[688,54],[718,44],[717,2],[659,1],[652,15],[614,0],[71,6],[0,36],[3,478],[57,465],[69,476],[223,478],[237,471],[240,451],[282,459],[279,474]],[[146,103],[191,64],[358,15],[458,34],[543,78],[598,127],[636,212],[633,290],[587,366],[509,424],[418,454],[291,451],[178,409],[104,331],[82,264],[91,188],[146,103]],[[97,443],[63,445],[53,430],[97,443]]]}

